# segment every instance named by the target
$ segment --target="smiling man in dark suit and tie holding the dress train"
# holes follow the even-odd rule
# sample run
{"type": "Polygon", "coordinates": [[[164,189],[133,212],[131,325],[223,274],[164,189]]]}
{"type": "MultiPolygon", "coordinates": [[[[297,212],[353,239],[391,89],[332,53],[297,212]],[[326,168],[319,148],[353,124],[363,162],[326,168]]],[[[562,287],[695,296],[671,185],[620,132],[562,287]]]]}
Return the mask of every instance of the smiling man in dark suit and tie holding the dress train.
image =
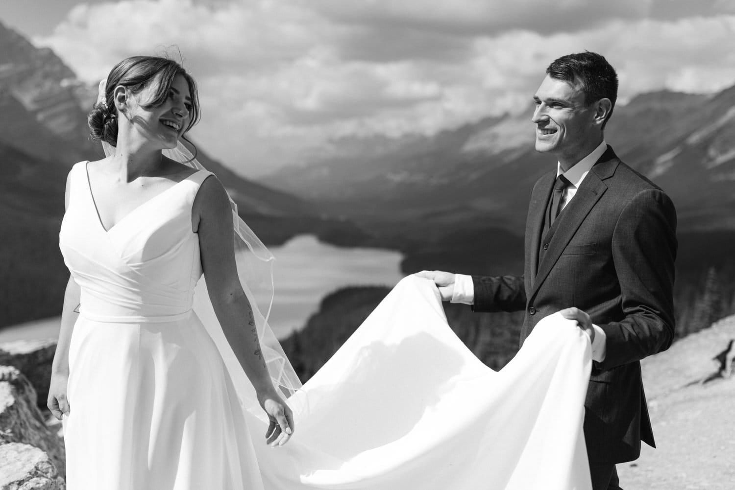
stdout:
{"type": "Polygon", "coordinates": [[[554,60],[534,96],[536,150],[554,169],[531,192],[522,276],[431,278],[442,299],[474,311],[519,311],[520,342],[555,311],[592,342],[584,436],[594,490],[620,489],[616,463],[654,446],[639,360],[674,336],[676,212],[670,198],[625,165],[603,138],[617,74],[599,54],[554,60]]]}

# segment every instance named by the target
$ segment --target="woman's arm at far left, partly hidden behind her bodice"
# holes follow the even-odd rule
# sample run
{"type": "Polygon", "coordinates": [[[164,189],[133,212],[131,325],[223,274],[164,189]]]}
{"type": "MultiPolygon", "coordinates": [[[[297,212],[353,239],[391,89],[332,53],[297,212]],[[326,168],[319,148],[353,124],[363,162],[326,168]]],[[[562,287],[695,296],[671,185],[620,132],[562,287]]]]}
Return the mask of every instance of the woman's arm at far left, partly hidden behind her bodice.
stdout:
{"type": "MultiPolygon", "coordinates": [[[[71,173],[66,179],[66,190],[64,195],[65,209],[69,207],[69,192],[71,173]]],[[[54,361],[51,364],[51,383],[49,384],[49,397],[46,406],[49,407],[54,417],[61,420],[62,414],[69,414],[69,402],[66,399],[66,385],[69,380],[69,344],[74,323],[79,317],[79,285],[74,278],[69,276],[64,292],[64,306],[61,312],[61,328],[59,339],[56,344],[54,361]]]]}

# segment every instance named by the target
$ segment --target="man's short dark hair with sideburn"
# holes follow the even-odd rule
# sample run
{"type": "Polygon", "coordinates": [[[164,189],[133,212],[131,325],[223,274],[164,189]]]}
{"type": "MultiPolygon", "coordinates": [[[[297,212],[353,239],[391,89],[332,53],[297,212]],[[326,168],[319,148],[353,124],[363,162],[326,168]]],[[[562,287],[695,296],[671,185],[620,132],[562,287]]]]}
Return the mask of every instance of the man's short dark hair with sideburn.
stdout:
{"type": "Polygon", "coordinates": [[[546,68],[546,74],[570,84],[580,82],[584,92],[584,104],[588,106],[600,98],[609,98],[612,107],[602,125],[602,129],[605,129],[617,100],[617,73],[603,55],[592,51],[567,54],[553,60],[546,68]]]}

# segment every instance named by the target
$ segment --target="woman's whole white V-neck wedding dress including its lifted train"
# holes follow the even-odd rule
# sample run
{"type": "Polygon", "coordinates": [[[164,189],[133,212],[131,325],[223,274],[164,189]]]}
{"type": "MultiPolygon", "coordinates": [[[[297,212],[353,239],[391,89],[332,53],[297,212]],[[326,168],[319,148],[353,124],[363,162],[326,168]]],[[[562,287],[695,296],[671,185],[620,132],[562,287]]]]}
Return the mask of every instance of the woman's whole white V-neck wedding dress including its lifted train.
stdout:
{"type": "Polygon", "coordinates": [[[295,434],[267,447],[213,312],[192,311],[206,292],[191,205],[208,175],[106,231],[85,162],[73,167],[60,233],[82,290],[69,490],[589,489],[584,332],[549,317],[495,372],[448,327],[433,283],[414,276],[290,397],[295,434]]]}

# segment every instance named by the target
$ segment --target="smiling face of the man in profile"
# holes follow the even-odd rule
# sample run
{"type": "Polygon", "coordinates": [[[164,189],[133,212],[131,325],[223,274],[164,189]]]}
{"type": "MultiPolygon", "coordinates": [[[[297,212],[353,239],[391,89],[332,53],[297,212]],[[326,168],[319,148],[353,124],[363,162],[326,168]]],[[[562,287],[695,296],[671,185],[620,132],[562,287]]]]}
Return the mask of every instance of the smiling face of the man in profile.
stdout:
{"type": "Polygon", "coordinates": [[[595,112],[585,105],[581,84],[547,75],[534,95],[534,102],[531,122],[536,125],[536,150],[554,154],[560,161],[575,162],[594,137],[596,128],[592,123],[595,112]]]}

